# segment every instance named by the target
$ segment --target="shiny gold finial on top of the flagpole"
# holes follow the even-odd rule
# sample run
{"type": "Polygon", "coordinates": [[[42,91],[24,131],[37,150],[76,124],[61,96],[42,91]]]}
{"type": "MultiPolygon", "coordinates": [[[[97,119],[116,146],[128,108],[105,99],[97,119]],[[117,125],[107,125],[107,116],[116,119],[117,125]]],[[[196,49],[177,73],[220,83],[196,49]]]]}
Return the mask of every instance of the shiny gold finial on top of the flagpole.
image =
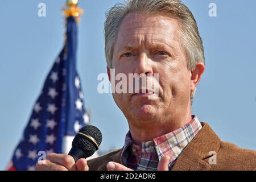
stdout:
{"type": "Polygon", "coordinates": [[[66,15],[66,18],[69,16],[74,16],[76,22],[80,22],[80,14],[84,13],[82,9],[78,6],[78,0],[67,0],[66,7],[63,9],[63,13],[66,15]]]}

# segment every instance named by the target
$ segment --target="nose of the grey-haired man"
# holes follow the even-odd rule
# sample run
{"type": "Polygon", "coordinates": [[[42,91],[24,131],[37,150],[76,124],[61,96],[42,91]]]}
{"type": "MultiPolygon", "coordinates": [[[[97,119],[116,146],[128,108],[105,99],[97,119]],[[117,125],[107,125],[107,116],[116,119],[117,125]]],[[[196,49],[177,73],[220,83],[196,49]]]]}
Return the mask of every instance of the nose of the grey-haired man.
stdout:
{"type": "Polygon", "coordinates": [[[138,73],[139,75],[142,73],[146,75],[153,74],[152,60],[146,55],[146,53],[142,53],[138,56],[136,64],[135,73],[138,73]]]}

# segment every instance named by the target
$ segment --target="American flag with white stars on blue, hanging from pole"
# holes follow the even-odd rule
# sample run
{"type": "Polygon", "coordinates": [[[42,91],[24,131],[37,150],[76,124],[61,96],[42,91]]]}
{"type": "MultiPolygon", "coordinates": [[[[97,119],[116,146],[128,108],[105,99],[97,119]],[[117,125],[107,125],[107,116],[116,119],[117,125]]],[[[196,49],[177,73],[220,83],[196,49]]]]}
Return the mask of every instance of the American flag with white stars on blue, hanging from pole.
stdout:
{"type": "Polygon", "coordinates": [[[34,170],[40,156],[67,154],[76,132],[89,123],[76,71],[77,24],[67,18],[67,42],[49,72],[9,170],[34,170]]]}

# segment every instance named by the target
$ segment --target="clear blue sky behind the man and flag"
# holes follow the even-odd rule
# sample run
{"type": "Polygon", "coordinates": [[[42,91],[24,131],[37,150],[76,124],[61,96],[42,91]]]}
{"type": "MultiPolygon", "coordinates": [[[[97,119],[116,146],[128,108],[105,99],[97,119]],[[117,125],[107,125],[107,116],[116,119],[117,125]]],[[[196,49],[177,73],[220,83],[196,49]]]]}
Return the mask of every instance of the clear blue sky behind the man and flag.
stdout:
{"type": "MultiPolygon", "coordinates": [[[[122,147],[126,118],[111,94],[99,94],[106,72],[105,11],[119,0],[81,1],[77,69],[92,124],[104,136],[101,150],[122,147]]],[[[121,1],[122,2],[122,1],[121,1]]],[[[206,70],[192,113],[222,140],[256,150],[256,1],[184,0],[195,15],[205,48],[206,70]],[[217,17],[209,17],[209,3],[217,17]]],[[[2,1],[0,6],[0,169],[9,162],[53,60],[64,42],[65,0],[2,1]],[[38,4],[46,3],[46,17],[38,4]]]]}

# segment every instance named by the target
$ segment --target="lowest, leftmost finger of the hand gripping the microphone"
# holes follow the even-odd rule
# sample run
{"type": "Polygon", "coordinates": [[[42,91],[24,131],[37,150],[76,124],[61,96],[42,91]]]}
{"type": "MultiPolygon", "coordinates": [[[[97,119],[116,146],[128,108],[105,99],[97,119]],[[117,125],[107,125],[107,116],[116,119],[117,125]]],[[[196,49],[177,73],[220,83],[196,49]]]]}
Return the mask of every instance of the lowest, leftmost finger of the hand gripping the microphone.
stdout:
{"type": "Polygon", "coordinates": [[[60,164],[52,163],[51,161],[43,160],[40,163],[36,163],[36,171],[68,171],[67,168],[61,166],[60,164]]]}

